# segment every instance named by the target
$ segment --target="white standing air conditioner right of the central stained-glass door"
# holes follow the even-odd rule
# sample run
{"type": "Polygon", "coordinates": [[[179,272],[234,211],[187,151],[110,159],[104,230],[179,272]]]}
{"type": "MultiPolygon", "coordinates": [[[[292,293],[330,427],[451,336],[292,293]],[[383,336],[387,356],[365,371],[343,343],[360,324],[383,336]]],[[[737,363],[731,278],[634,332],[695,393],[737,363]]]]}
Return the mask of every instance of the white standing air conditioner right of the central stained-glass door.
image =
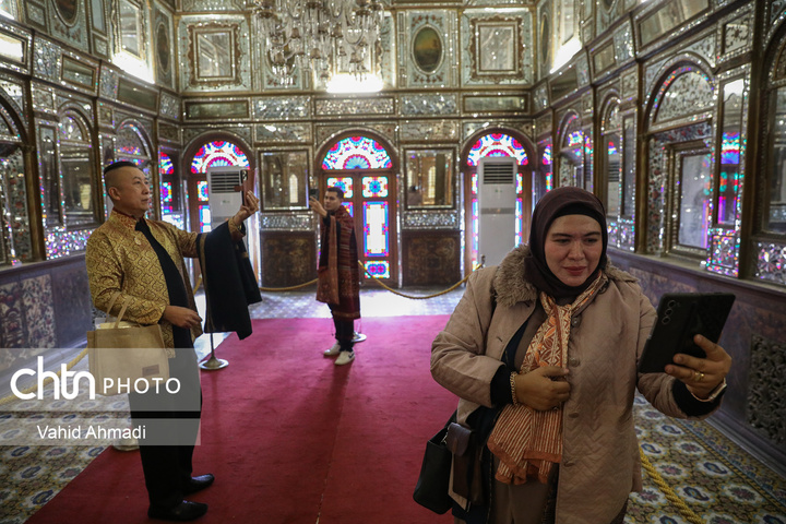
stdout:
{"type": "Polygon", "coordinates": [[[516,163],[481,158],[478,168],[478,260],[498,265],[515,247],[516,163]]]}

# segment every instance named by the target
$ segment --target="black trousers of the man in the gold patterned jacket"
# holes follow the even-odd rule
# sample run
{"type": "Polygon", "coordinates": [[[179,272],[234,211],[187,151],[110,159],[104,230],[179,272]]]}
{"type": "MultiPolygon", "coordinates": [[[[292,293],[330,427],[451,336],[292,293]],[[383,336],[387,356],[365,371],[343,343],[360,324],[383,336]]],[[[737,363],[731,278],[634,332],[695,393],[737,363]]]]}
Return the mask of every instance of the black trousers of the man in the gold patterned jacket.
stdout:
{"type": "MultiPolygon", "coordinates": [[[[193,348],[175,352],[169,377],[179,381],[177,393],[162,386],[158,393],[129,394],[131,420],[134,427],[144,427],[140,457],[150,505],[158,509],[174,508],[183,500],[202,413],[196,354],[193,348]]],[[[174,391],[175,382],[169,384],[174,391]]]]}

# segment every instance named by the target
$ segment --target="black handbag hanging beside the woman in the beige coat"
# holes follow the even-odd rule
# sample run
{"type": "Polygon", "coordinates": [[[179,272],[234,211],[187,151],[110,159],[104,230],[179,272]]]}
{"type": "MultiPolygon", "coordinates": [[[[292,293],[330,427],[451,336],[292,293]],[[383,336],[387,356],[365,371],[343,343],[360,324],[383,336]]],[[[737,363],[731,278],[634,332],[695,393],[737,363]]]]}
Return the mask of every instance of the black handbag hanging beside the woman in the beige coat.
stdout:
{"type": "Polygon", "coordinates": [[[444,428],[426,442],[420,475],[413,493],[415,502],[440,515],[453,505],[453,499],[448,495],[453,454],[445,444],[445,437],[448,427],[455,421],[455,417],[456,414],[453,413],[444,428]]]}

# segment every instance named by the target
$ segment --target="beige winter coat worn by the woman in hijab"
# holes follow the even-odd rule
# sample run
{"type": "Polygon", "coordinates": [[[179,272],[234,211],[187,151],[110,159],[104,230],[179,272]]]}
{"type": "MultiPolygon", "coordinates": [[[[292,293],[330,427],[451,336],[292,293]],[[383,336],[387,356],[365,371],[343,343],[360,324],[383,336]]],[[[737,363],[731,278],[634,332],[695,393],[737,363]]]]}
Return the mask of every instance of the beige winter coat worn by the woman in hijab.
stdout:
{"type": "MultiPolygon", "coordinates": [[[[533,313],[536,289],[524,282],[528,248],[473,274],[448,325],[433,342],[431,374],[458,395],[458,421],[492,407],[490,384],[504,349],[533,313]],[[491,318],[490,293],[497,291],[491,318]]],[[[688,417],[665,373],[638,374],[636,360],[655,309],[628,273],[607,266],[600,291],[572,320],[567,367],[570,398],[562,409],[562,463],[557,524],[604,524],[642,487],[632,405],[635,389],[668,416],[688,417]]]]}

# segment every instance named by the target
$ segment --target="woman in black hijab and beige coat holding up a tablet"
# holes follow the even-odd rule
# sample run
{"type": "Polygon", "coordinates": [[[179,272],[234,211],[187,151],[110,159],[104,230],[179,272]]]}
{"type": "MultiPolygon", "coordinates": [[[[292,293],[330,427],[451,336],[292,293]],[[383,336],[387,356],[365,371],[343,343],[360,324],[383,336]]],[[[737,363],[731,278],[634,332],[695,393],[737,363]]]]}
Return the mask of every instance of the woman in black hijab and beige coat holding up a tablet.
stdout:
{"type": "Polygon", "coordinates": [[[434,340],[431,373],[458,395],[458,424],[486,442],[485,500],[452,491],[456,522],[622,523],[642,487],[635,390],[671,417],[717,409],[731,359],[702,336],[705,359],[636,372],[656,312],[607,243],[594,194],[548,192],[529,243],[473,274],[434,340]]]}

